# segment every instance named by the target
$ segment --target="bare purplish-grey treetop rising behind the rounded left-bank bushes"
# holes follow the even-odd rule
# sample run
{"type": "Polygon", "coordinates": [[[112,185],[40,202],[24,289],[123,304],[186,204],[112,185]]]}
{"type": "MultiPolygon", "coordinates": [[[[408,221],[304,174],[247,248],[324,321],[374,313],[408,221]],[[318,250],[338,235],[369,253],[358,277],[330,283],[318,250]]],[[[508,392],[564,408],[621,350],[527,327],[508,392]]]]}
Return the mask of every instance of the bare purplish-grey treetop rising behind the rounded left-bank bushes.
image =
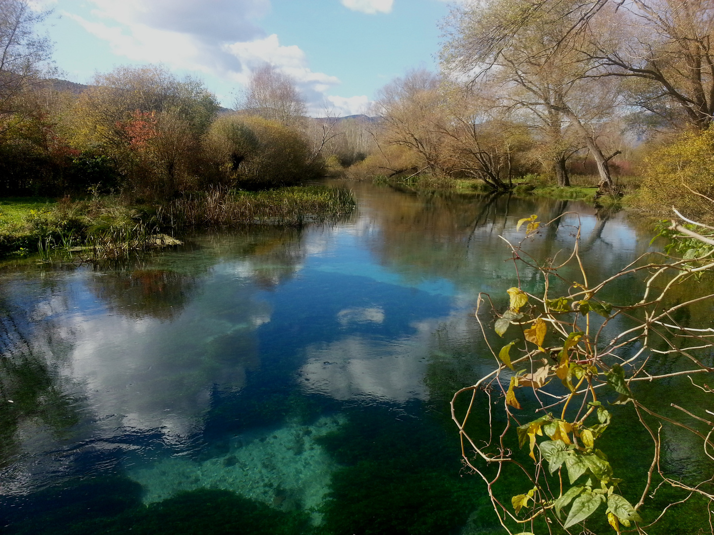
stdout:
{"type": "Polygon", "coordinates": [[[300,126],[307,109],[294,78],[268,63],[253,72],[236,107],[292,127],[300,126]]]}

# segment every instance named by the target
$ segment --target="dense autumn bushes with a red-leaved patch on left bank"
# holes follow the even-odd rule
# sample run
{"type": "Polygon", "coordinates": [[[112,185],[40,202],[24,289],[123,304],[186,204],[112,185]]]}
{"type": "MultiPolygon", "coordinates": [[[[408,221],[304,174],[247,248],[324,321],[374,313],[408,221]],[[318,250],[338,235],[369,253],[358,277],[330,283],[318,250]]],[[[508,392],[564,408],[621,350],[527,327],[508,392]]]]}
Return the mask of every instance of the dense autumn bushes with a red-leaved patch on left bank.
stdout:
{"type": "Polygon", "coordinates": [[[302,117],[218,117],[215,96],[163,67],[119,67],[79,93],[54,81],[0,118],[0,195],[120,193],[166,201],[213,186],[258,190],[316,175],[302,117]]]}

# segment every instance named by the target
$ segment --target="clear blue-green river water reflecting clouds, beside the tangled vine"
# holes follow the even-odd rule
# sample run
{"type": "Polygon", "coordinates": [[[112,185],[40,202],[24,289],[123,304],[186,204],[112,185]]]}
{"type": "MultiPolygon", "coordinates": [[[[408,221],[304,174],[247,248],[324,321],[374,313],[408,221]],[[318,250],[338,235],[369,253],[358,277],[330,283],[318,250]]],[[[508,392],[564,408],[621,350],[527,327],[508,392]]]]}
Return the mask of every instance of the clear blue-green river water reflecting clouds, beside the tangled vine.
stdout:
{"type": "MultiPolygon", "coordinates": [[[[498,532],[448,414],[493,365],[473,306],[516,282],[498,235],[576,211],[596,278],[650,230],[573,201],[353,188],[334,225],[1,265],[6,532],[498,532]]],[[[535,253],[567,250],[577,220],[535,253]]]]}

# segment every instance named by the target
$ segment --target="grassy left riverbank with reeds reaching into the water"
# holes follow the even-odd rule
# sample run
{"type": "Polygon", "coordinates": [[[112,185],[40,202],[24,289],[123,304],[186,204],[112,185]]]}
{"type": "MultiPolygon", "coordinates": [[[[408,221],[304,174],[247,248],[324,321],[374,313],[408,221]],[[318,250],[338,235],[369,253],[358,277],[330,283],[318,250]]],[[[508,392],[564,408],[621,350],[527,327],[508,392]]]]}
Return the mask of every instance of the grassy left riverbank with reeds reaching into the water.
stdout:
{"type": "Polygon", "coordinates": [[[345,188],[293,186],[259,192],[214,189],[162,204],[128,205],[111,195],[86,200],[0,200],[0,255],[51,248],[146,248],[152,236],[186,228],[302,225],[346,215],[355,206],[345,188]],[[128,245],[127,245],[128,244],[128,245]]]}

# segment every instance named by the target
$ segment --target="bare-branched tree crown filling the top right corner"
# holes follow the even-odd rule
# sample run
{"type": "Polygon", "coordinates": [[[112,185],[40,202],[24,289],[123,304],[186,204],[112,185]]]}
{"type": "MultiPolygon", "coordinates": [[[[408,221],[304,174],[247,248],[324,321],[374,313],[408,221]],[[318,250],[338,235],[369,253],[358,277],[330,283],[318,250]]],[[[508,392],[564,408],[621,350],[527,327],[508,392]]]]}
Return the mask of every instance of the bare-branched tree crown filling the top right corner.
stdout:
{"type": "Polygon", "coordinates": [[[630,78],[632,103],[705,130],[714,115],[714,1],[612,1],[581,21],[598,76],[630,78]],[[680,113],[673,115],[673,109],[680,113]]]}

